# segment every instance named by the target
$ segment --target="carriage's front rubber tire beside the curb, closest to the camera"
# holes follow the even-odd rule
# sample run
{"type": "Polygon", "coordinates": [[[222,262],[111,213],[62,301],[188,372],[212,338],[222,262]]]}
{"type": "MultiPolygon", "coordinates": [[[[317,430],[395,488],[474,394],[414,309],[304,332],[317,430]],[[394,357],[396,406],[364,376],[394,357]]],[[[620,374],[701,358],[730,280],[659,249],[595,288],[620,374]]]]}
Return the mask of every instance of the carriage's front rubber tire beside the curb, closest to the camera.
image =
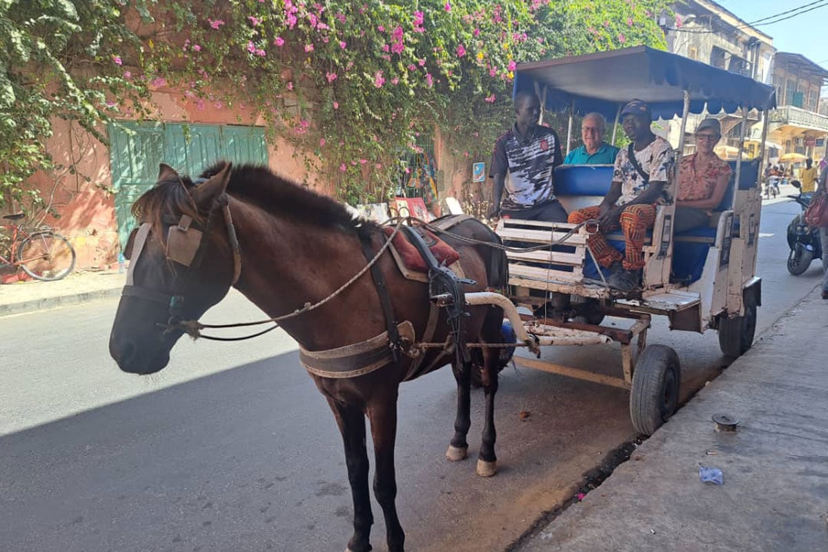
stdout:
{"type": "Polygon", "coordinates": [[[681,363],[667,345],[649,345],[638,356],[629,394],[629,416],[638,433],[652,435],[676,412],[681,363]]]}

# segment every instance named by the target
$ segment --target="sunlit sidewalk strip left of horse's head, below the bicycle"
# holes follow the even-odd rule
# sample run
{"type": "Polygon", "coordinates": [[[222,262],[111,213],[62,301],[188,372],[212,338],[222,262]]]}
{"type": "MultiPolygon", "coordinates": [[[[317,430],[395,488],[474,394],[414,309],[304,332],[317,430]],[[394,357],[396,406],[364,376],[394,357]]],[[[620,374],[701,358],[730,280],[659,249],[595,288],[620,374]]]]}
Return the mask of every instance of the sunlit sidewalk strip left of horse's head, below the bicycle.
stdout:
{"type": "Polygon", "coordinates": [[[127,279],[118,271],[73,272],[59,281],[22,281],[0,285],[0,316],[78,305],[121,295],[127,279]]]}

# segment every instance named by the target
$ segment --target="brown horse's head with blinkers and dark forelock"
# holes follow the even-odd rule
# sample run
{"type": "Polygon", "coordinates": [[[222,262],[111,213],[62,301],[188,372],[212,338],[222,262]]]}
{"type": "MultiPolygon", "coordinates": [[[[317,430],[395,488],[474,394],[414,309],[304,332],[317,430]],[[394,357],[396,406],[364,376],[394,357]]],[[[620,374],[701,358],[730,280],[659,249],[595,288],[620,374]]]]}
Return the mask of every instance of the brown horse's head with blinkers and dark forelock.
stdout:
{"type": "Polygon", "coordinates": [[[184,333],[178,323],[199,319],[238,279],[238,243],[224,193],[230,165],[204,176],[194,184],[162,164],[156,185],[132,207],[141,226],[125,248],[131,264],[109,336],[109,353],[124,372],[166,367],[184,333]]]}

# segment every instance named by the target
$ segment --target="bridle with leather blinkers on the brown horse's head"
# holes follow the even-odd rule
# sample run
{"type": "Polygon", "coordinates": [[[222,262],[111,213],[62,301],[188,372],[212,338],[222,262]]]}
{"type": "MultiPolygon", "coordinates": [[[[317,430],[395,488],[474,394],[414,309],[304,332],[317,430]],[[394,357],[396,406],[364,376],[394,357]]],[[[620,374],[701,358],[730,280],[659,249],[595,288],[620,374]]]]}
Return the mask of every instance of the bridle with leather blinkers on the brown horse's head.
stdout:
{"type": "MultiPolygon", "coordinates": [[[[197,225],[193,223],[193,219],[185,214],[181,215],[178,223],[171,224],[167,230],[165,257],[167,261],[185,266],[185,271],[199,266],[201,257],[204,256],[204,236],[209,232],[210,225],[213,222],[216,205],[219,206],[224,215],[224,226],[227,228],[230,247],[233,249],[233,281],[230,283],[230,286],[234,286],[242,273],[242,252],[238,245],[236,228],[233,226],[233,217],[230,214],[230,198],[227,194],[223,193],[216,199],[213,207],[209,210],[207,222],[203,230],[196,228],[197,225]]],[[[161,337],[163,337],[176,329],[181,329],[185,295],[183,292],[176,293],[176,284],[178,281],[177,272],[173,275],[171,294],[161,293],[161,291],[152,290],[146,286],[136,286],[134,284],[133,271],[135,270],[138,257],[141,256],[144,244],[147,242],[147,237],[151,230],[152,224],[150,223],[142,223],[138,228],[135,241],[133,242],[132,255],[130,256],[132,257],[132,261],[129,264],[129,271],[127,273],[127,284],[123,286],[122,295],[137,297],[142,300],[152,301],[153,303],[160,303],[167,307],[168,318],[166,324],[158,324],[164,329],[161,333],[161,337]]]]}

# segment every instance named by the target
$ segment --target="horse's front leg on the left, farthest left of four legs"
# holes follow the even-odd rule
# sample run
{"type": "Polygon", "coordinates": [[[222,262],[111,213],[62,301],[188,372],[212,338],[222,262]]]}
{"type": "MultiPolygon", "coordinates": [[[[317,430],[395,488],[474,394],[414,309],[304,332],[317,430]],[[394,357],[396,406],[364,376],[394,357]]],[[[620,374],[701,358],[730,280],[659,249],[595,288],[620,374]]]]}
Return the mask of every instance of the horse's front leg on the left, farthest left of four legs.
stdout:
{"type": "Polygon", "coordinates": [[[330,410],[334,411],[339,432],[345,445],[345,465],[354,499],[354,535],[348,541],[345,552],[371,550],[371,495],[368,492],[368,452],[365,449],[365,415],[359,408],[347,406],[326,397],[330,410]]]}

